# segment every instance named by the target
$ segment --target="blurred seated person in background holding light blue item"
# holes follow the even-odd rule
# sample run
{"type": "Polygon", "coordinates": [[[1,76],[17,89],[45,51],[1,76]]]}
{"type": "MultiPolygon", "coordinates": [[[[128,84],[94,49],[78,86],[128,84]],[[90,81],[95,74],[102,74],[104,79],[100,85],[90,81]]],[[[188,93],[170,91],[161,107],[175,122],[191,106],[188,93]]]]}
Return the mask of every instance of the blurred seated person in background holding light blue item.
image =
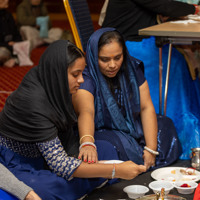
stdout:
{"type": "Polygon", "coordinates": [[[52,27],[43,0],[23,0],[17,6],[16,14],[22,37],[31,42],[31,49],[62,37],[63,30],[52,27]]]}

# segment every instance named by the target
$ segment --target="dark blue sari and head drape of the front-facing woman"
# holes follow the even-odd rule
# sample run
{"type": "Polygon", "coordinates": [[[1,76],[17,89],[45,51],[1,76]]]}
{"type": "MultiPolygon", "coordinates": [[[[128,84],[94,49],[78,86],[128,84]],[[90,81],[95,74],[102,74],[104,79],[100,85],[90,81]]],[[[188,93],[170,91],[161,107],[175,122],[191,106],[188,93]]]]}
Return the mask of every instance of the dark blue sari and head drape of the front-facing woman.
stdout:
{"type": "MultiPolygon", "coordinates": [[[[120,90],[115,91],[116,98],[98,66],[99,38],[103,33],[113,30],[115,29],[103,28],[91,36],[86,51],[88,66],[84,71],[85,81],[80,89],[88,90],[94,96],[95,139],[109,141],[116,148],[121,160],[143,164],[145,140],[140,120],[139,98],[139,86],[145,81],[141,70],[143,63],[126,51],[126,66],[122,65],[116,77],[120,84],[120,90]],[[121,108],[116,99],[121,102],[121,108]]],[[[169,165],[178,158],[180,148],[176,132],[158,132],[158,151],[160,155],[156,159],[156,167],[169,165]],[[165,141],[169,141],[168,145],[165,141]]]]}

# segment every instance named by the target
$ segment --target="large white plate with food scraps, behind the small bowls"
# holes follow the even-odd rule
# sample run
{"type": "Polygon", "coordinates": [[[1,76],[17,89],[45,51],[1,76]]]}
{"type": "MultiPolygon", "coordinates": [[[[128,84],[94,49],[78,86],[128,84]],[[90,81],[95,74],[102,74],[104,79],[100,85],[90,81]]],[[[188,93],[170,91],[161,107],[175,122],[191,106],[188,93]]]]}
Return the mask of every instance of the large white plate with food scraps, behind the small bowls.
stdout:
{"type": "Polygon", "coordinates": [[[151,177],[155,180],[165,180],[171,182],[177,181],[199,181],[200,172],[191,168],[185,167],[163,167],[156,169],[151,173],[151,177]],[[184,175],[180,170],[189,170],[194,172],[194,175],[184,175]]]}

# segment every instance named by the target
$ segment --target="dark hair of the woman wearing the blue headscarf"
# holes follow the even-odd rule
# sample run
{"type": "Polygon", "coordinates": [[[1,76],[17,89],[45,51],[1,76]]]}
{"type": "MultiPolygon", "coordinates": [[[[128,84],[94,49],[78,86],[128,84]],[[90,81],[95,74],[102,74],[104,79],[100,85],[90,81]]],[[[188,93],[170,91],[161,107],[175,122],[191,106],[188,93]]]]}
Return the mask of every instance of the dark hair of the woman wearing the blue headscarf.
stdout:
{"type": "Polygon", "coordinates": [[[99,39],[98,43],[98,50],[100,51],[101,48],[106,45],[110,44],[112,41],[116,41],[123,49],[123,57],[124,61],[126,60],[126,45],[123,36],[118,31],[108,31],[105,32],[99,39]]]}

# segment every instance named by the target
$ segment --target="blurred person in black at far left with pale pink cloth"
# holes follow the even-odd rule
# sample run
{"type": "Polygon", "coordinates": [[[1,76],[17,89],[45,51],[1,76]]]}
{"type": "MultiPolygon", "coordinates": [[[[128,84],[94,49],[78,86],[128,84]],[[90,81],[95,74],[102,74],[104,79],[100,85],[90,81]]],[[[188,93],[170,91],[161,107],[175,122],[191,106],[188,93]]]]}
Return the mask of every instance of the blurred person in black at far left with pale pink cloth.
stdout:
{"type": "Polygon", "coordinates": [[[29,58],[30,43],[22,41],[15,20],[7,10],[8,6],[9,0],[0,0],[0,65],[33,65],[29,58]]]}

